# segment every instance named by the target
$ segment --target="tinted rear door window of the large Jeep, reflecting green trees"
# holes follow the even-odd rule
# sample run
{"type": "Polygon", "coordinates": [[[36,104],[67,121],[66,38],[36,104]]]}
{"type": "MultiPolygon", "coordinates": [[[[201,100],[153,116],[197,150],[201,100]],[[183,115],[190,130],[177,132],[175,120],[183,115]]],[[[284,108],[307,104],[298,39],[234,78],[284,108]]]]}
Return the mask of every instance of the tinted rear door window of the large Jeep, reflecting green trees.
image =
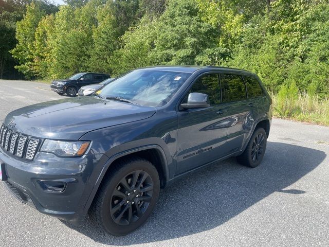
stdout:
{"type": "Polygon", "coordinates": [[[221,82],[224,86],[223,102],[244,100],[247,98],[246,86],[242,76],[238,75],[221,75],[221,82]]]}

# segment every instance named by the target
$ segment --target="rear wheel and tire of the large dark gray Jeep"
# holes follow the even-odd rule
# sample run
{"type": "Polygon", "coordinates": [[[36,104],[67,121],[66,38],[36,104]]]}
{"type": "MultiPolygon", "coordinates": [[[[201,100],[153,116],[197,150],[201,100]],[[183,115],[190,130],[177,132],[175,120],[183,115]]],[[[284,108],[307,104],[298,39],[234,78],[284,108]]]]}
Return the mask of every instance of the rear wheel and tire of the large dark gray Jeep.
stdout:
{"type": "Polygon", "coordinates": [[[266,150],[266,132],[263,128],[254,130],[245,151],[236,157],[237,162],[248,167],[261,164],[266,150]]]}

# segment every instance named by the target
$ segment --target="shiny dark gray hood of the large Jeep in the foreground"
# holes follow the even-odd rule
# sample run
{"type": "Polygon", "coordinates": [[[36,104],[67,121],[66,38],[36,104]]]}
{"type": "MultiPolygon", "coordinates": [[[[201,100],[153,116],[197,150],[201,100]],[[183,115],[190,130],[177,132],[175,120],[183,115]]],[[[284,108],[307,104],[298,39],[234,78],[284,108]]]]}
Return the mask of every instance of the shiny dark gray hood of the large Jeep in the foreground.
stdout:
{"type": "Polygon", "coordinates": [[[153,107],[142,107],[95,97],[76,97],[29,105],[9,113],[11,128],[41,138],[78,140],[85,133],[151,117],[153,107]]]}

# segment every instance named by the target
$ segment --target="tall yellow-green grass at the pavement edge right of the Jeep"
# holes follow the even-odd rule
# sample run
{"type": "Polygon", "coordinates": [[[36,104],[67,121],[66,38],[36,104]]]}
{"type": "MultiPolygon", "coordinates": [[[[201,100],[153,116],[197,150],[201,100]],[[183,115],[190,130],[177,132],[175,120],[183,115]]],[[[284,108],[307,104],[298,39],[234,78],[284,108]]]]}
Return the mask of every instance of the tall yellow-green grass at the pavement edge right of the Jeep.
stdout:
{"type": "Polygon", "coordinates": [[[273,99],[273,115],[329,126],[329,98],[283,86],[273,99]]]}

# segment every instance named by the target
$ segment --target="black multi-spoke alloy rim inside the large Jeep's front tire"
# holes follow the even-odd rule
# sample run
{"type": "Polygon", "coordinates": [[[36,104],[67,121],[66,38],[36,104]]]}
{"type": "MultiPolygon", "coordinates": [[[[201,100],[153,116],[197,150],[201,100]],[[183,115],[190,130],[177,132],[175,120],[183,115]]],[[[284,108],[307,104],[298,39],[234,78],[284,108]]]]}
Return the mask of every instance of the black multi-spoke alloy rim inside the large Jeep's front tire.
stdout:
{"type": "Polygon", "coordinates": [[[153,181],[145,171],[133,171],[121,179],[112,193],[110,212],[118,225],[140,219],[152,200],[153,181]]]}

